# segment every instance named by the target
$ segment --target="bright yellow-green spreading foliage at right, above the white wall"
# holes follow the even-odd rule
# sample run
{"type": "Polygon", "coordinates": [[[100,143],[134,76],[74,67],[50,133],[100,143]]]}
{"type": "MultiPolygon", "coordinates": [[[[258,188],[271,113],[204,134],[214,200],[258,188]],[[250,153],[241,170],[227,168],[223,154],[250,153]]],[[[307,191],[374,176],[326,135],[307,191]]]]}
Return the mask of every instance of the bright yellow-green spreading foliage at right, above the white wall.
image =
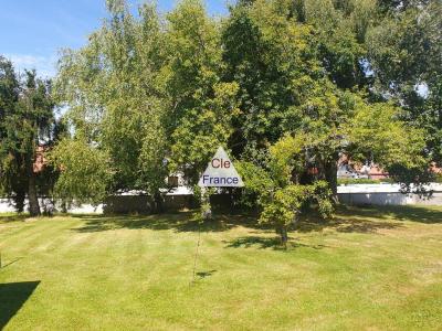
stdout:
{"type": "Polygon", "coordinates": [[[391,178],[406,185],[427,183],[429,163],[422,129],[399,119],[399,109],[385,103],[358,104],[359,111],[348,127],[348,142],[355,160],[373,159],[391,178]]]}

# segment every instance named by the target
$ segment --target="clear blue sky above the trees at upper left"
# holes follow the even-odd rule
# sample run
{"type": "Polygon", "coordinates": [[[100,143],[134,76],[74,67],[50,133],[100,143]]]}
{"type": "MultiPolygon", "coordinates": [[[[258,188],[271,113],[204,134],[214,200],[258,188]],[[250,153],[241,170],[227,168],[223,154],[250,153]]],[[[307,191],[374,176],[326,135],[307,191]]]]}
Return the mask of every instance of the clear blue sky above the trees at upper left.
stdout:
{"type": "MultiPolygon", "coordinates": [[[[128,0],[136,8],[141,0],[128,0]]],[[[178,0],[158,0],[161,12],[178,0]]],[[[228,0],[207,0],[212,15],[227,13],[228,0]]],[[[61,49],[80,49],[106,17],[105,0],[0,0],[0,54],[18,71],[35,68],[52,77],[61,49]]]]}

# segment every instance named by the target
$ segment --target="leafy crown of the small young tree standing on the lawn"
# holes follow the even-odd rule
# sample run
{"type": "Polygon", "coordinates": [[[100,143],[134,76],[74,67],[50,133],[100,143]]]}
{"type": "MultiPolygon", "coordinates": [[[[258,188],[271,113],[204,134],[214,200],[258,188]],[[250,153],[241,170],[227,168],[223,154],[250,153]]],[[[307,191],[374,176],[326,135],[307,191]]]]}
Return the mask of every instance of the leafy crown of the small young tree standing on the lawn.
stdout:
{"type": "Polygon", "coordinates": [[[326,181],[318,180],[312,184],[293,181],[305,167],[304,143],[303,136],[286,136],[270,148],[265,169],[252,162],[240,162],[236,167],[245,183],[246,197],[257,196],[262,209],[260,223],[274,226],[283,245],[288,239],[290,226],[296,223],[305,204],[317,203],[323,217],[332,216],[334,210],[326,181]]]}

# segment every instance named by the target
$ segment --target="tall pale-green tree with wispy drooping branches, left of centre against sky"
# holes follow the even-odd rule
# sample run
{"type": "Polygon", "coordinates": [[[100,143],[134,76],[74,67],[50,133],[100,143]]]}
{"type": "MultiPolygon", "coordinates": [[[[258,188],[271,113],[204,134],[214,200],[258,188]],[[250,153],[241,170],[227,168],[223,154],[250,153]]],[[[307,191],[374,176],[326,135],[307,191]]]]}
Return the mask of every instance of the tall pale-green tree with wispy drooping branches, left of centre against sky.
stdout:
{"type": "MultiPolygon", "coordinates": [[[[166,52],[161,23],[151,4],[140,6],[138,15],[123,1],[107,1],[107,8],[109,18],[88,44],[64,52],[57,96],[69,107],[66,117],[74,131],[70,139],[107,156],[104,164],[112,164],[114,175],[103,178],[106,192],[145,190],[160,207],[160,189],[168,173],[166,119],[170,106],[161,75],[166,52]]],[[[65,169],[74,167],[70,152],[75,151],[61,148],[54,153],[54,159],[64,160],[65,169]]],[[[70,174],[75,172],[63,173],[66,183],[74,182],[67,179],[70,174]]],[[[102,196],[103,186],[96,188],[99,190],[90,191],[88,199],[102,196]]]]}

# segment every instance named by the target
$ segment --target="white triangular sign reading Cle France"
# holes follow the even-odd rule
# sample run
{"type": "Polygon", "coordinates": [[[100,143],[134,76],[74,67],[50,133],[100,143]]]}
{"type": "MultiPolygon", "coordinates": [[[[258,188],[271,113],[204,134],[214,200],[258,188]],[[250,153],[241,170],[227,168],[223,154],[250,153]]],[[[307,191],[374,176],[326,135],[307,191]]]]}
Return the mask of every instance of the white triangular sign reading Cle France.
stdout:
{"type": "Polygon", "coordinates": [[[201,188],[242,188],[244,183],[228,153],[222,147],[219,147],[198,185],[201,188]]]}

